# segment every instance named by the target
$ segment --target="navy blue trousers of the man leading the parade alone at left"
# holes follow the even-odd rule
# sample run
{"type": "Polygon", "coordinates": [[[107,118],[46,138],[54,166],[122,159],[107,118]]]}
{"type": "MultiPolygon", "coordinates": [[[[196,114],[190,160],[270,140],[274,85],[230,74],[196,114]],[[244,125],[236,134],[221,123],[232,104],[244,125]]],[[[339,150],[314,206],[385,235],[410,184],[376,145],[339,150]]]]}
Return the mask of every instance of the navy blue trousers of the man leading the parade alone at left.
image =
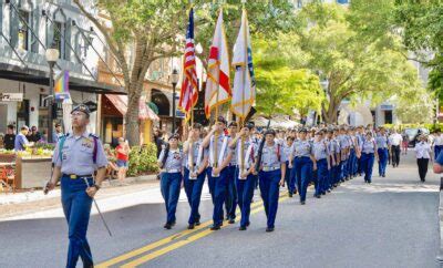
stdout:
{"type": "MultiPolygon", "coordinates": [[[[93,184],[92,177],[87,178],[93,184]]],[[[92,198],[86,194],[83,178],[71,179],[63,175],[61,179],[62,206],[69,226],[68,268],[76,267],[79,257],[84,267],[93,267],[91,248],[86,239],[87,225],[91,215],[92,198]]]]}

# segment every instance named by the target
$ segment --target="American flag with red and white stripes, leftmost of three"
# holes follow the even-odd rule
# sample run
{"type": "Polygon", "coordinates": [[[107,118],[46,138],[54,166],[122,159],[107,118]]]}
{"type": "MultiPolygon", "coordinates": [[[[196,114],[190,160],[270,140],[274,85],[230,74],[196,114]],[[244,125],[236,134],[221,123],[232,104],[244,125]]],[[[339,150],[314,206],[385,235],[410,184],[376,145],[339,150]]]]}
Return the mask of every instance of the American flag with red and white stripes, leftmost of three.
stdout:
{"type": "Polygon", "coordinates": [[[198,81],[195,62],[194,44],[194,9],[189,11],[189,23],[186,32],[185,60],[183,63],[183,82],[178,109],[185,113],[186,121],[190,117],[190,112],[198,100],[198,81]]]}

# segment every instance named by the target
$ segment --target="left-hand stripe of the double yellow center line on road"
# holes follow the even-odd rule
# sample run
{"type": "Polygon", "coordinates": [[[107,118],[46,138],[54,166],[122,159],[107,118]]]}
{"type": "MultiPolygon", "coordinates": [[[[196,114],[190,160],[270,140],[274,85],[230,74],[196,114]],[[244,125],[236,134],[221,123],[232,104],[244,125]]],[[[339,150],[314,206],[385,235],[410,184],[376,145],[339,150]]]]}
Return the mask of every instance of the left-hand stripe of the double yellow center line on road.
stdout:
{"type": "MultiPolygon", "coordinates": [[[[282,195],[285,195],[285,194],[287,194],[287,192],[284,192],[282,194],[280,194],[280,197],[282,195]]],[[[257,208],[257,207],[259,207],[261,205],[262,205],[262,200],[254,203],[254,205],[251,206],[251,209],[257,208]]],[[[237,213],[237,215],[239,215],[239,214],[237,213]]],[[[213,224],[213,220],[207,220],[207,221],[203,223],[202,225],[196,226],[196,228],[194,228],[194,229],[190,229],[190,230],[189,229],[185,229],[183,231],[176,233],[176,234],[174,234],[172,236],[168,236],[168,237],[163,238],[161,240],[157,240],[155,243],[148,244],[148,245],[146,245],[144,247],[131,250],[131,251],[128,251],[126,254],[123,254],[121,256],[117,256],[115,258],[106,260],[106,261],[104,261],[102,264],[96,265],[95,267],[96,268],[104,268],[104,267],[114,266],[114,265],[116,265],[119,262],[123,262],[123,261],[125,261],[127,259],[134,258],[134,257],[136,257],[138,255],[142,255],[142,254],[146,252],[146,251],[153,250],[153,249],[162,247],[162,246],[164,246],[166,244],[169,244],[169,243],[173,243],[175,240],[182,239],[182,238],[184,238],[184,237],[186,237],[188,235],[192,235],[192,234],[194,234],[196,231],[199,231],[199,230],[208,227],[212,224],[213,224]]]]}

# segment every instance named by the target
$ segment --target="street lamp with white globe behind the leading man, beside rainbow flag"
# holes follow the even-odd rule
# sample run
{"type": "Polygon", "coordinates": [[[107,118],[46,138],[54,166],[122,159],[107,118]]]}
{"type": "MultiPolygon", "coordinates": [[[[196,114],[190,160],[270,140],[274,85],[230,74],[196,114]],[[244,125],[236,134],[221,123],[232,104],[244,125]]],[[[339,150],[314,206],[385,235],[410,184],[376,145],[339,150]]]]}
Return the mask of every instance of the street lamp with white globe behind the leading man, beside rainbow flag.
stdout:
{"type": "Polygon", "coordinates": [[[47,62],[49,64],[49,109],[48,109],[48,143],[53,143],[52,138],[52,103],[54,100],[54,65],[60,56],[60,51],[56,49],[55,43],[51,45],[44,53],[47,62]]]}

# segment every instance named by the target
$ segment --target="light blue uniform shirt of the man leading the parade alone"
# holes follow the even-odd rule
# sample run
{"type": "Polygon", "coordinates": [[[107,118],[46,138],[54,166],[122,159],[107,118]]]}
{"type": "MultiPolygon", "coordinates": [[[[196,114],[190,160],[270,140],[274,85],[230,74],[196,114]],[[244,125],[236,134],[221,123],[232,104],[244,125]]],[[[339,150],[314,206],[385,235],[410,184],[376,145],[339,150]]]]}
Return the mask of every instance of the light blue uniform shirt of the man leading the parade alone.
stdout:
{"type": "Polygon", "coordinates": [[[59,142],[52,156],[52,162],[55,166],[61,167],[63,174],[84,176],[93,174],[97,168],[107,166],[107,158],[99,138],[96,143],[96,163],[94,164],[95,145],[92,134],[84,132],[81,136],[74,136],[69,133],[64,138],[63,148],[60,148],[59,142]]]}

